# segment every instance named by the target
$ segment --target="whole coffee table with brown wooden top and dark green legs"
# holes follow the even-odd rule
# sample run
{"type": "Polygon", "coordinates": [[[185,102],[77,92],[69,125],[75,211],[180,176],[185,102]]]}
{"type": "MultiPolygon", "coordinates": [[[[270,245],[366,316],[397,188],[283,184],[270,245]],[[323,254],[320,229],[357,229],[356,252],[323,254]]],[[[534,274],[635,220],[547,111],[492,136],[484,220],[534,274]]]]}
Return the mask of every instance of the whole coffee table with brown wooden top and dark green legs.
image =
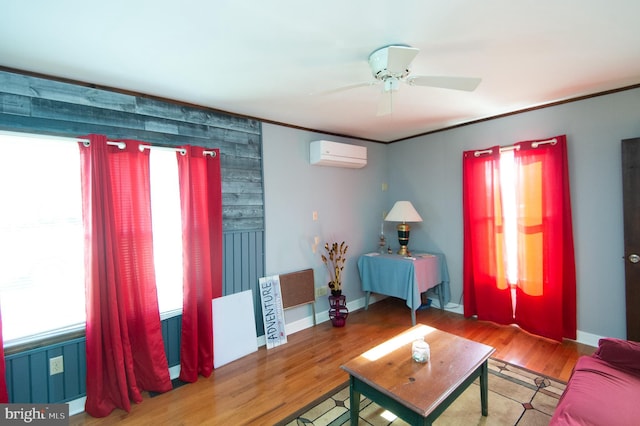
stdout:
{"type": "Polygon", "coordinates": [[[351,425],[358,424],[360,394],[411,425],[430,425],[478,377],[487,416],[487,360],[494,351],[423,324],[411,327],[342,366],[349,373],[351,425]],[[419,337],[431,348],[428,363],[411,358],[411,344],[419,337]]]}

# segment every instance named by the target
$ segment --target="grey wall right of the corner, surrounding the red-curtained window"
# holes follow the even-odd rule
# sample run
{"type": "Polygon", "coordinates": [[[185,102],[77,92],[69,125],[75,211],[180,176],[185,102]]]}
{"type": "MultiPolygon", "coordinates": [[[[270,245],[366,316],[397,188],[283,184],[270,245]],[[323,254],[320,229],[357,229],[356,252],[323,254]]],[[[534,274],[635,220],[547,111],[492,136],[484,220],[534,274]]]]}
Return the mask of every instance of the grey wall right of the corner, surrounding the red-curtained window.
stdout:
{"type": "MultiPolygon", "coordinates": [[[[567,135],[577,272],[578,340],[625,337],[620,141],[640,136],[640,89],[490,120],[393,144],[390,192],[425,221],[413,245],[447,255],[462,293],[462,152],[567,135]]],[[[464,301],[463,301],[464,302],[464,301]]]]}

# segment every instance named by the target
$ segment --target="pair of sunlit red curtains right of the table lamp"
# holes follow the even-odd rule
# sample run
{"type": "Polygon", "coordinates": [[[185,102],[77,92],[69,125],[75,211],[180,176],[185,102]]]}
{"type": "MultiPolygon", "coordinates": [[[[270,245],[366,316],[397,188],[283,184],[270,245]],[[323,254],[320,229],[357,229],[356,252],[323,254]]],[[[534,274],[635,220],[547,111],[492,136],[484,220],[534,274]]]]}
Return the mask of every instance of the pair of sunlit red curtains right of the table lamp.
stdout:
{"type": "Polygon", "coordinates": [[[464,314],[561,341],[576,338],[576,277],[566,137],[553,139],[515,144],[515,315],[505,278],[500,149],[464,153],[464,314]]]}

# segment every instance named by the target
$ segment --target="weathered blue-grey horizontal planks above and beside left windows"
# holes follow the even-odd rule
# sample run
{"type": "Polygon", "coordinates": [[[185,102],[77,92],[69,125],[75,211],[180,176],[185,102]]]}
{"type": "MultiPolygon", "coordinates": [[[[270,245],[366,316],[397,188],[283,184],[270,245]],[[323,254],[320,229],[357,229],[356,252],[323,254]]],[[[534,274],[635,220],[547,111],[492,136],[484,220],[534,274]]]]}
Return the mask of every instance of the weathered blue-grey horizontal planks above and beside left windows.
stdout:
{"type": "Polygon", "coordinates": [[[0,129],[220,148],[224,230],[264,230],[259,121],[0,71],[0,129]]]}

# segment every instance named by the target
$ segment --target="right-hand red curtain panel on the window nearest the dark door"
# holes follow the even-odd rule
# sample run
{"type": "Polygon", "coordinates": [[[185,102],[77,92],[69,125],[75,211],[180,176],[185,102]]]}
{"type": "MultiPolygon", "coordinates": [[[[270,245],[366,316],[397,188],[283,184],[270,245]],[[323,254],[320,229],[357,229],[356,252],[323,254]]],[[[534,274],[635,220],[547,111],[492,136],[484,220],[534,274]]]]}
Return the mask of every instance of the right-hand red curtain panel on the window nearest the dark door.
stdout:
{"type": "Polygon", "coordinates": [[[561,341],[576,339],[576,272],[566,137],[516,144],[516,323],[561,341]]]}

